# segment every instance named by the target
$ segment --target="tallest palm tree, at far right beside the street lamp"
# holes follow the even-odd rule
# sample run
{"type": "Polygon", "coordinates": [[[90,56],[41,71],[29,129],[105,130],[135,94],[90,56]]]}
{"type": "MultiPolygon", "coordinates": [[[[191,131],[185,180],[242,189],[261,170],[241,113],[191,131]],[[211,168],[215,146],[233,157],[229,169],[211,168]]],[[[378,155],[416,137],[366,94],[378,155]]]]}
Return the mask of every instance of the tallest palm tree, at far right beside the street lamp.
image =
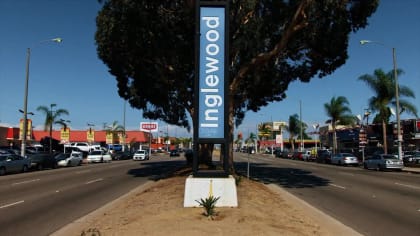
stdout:
{"type": "MultiPolygon", "coordinates": [[[[402,73],[402,70],[397,70],[397,75],[402,73]]],[[[375,93],[374,96],[369,98],[369,108],[378,113],[374,121],[382,123],[383,148],[384,152],[388,153],[386,125],[389,123],[392,114],[391,106],[396,106],[394,71],[385,73],[382,69],[376,69],[373,75],[362,75],[359,80],[365,82],[375,93]]],[[[415,98],[414,92],[407,86],[399,85],[398,91],[399,97],[415,98]]],[[[399,103],[403,111],[417,117],[417,109],[412,103],[404,99],[400,99],[399,103]]]]}

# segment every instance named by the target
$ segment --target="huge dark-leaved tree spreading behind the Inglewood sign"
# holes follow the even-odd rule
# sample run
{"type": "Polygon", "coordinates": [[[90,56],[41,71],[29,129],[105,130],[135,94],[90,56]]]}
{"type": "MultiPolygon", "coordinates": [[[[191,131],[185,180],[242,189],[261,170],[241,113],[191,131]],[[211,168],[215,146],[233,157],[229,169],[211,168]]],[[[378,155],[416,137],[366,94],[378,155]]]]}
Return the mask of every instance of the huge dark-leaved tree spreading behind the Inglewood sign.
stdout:
{"type": "MultiPolygon", "coordinates": [[[[95,36],[119,95],[147,119],[188,129],[195,112],[197,2],[104,0],[95,36]]],[[[378,0],[229,3],[229,140],[247,111],[283,100],[290,82],[309,82],[342,66],[349,34],[364,28],[378,6],[378,0]]]]}

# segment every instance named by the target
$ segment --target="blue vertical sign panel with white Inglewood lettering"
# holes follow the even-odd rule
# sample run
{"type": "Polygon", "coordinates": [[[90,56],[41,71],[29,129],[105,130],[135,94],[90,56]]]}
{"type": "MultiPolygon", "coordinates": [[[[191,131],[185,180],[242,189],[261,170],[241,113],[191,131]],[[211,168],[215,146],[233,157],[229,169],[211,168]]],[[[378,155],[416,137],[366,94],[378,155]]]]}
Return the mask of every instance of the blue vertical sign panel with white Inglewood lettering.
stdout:
{"type": "Polygon", "coordinates": [[[224,138],[225,8],[200,8],[198,138],[224,138]]]}

